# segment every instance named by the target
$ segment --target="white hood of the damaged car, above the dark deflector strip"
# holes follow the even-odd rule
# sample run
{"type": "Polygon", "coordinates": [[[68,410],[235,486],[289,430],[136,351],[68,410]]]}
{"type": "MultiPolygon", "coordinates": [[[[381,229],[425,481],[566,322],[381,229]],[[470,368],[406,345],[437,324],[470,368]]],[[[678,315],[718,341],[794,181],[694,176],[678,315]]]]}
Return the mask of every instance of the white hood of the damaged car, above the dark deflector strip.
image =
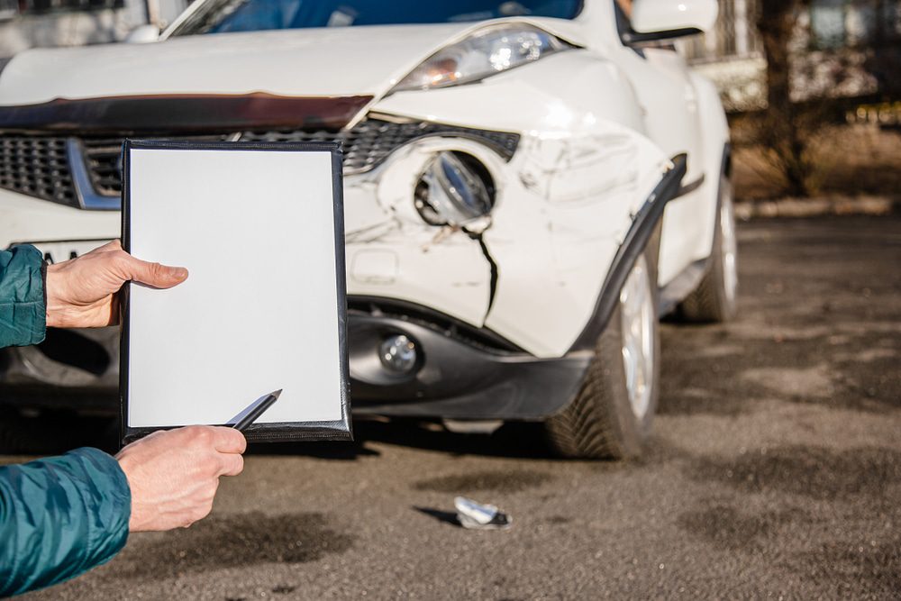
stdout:
{"type": "Polygon", "coordinates": [[[222,33],[28,50],[0,74],[0,105],[115,96],[382,96],[434,51],[485,24],[222,33]]]}

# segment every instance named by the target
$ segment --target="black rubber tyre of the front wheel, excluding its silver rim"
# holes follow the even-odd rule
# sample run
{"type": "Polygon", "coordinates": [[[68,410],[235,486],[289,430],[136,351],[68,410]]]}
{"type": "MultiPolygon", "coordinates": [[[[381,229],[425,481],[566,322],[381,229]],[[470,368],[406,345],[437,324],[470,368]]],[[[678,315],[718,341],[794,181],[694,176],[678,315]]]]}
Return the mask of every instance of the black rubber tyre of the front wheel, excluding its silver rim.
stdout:
{"type": "Polygon", "coordinates": [[[642,417],[633,412],[623,365],[623,319],[617,304],[605,331],[597,341],[575,400],[545,422],[551,449],[573,459],[623,460],[638,457],[651,433],[660,383],[660,332],[656,318],[658,290],[656,253],[644,255],[650,279],[654,318],[652,321],[653,369],[651,397],[642,417]]]}

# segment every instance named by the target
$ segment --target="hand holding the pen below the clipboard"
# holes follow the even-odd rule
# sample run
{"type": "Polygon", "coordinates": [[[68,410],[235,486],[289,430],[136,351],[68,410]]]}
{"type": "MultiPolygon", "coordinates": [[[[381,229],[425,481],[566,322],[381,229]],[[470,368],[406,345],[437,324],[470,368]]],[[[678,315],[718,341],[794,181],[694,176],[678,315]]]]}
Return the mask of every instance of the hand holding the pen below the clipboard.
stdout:
{"type": "Polygon", "coordinates": [[[151,433],[116,460],[132,489],[132,533],[187,528],[206,517],[220,476],[244,469],[244,435],[233,428],[193,425],[151,433]]]}

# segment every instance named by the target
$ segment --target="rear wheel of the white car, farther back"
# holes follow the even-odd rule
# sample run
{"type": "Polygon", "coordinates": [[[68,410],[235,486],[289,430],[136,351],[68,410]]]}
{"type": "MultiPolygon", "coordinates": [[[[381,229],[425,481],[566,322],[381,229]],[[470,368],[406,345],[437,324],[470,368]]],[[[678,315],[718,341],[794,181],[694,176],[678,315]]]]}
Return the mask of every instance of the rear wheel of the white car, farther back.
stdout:
{"type": "Polygon", "coordinates": [[[714,248],[704,279],[679,305],[678,314],[689,322],[722,323],[735,316],[738,297],[738,241],[732,183],[720,184],[719,215],[714,230],[714,248]]]}

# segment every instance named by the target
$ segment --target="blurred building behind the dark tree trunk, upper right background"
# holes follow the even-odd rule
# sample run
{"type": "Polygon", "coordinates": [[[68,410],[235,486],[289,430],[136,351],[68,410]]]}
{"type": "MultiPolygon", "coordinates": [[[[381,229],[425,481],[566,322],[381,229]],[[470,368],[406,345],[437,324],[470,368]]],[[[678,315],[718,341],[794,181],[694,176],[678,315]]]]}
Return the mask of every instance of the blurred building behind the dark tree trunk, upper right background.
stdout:
{"type": "MultiPolygon", "coordinates": [[[[766,59],[756,0],[719,0],[712,32],[680,42],[712,78],[731,112],[766,106],[766,59]]],[[[901,0],[808,0],[796,11],[789,43],[792,96],[899,97],[901,0]]]]}

